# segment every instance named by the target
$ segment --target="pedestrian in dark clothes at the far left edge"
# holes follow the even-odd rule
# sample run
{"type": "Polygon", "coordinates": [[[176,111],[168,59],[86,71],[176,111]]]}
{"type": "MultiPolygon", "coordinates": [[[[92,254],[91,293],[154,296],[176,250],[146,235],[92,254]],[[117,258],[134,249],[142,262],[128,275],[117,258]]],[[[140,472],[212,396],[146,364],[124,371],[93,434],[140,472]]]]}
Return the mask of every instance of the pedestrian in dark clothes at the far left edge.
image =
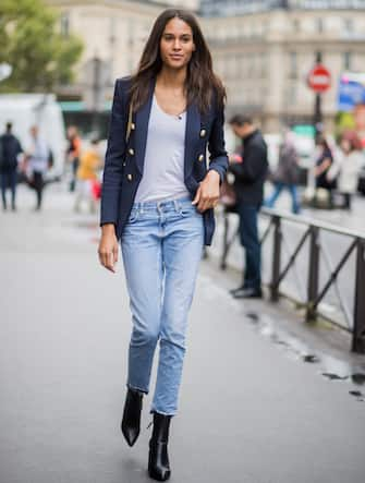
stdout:
{"type": "Polygon", "coordinates": [[[11,191],[11,209],[16,210],[16,178],[19,155],[23,153],[20,141],[12,133],[12,123],[8,122],[5,132],[0,136],[0,179],[2,209],[8,209],[7,190],[11,191]]]}

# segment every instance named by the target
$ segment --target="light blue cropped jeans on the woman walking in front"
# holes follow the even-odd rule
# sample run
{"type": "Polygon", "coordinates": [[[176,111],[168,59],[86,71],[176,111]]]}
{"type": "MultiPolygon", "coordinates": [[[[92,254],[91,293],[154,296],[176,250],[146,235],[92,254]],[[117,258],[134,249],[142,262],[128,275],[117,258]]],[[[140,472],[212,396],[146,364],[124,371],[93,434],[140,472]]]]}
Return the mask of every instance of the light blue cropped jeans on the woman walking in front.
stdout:
{"type": "Polygon", "coordinates": [[[187,313],[203,243],[203,216],[186,197],[135,203],[122,234],[133,321],[127,387],[148,393],[159,341],[151,412],[174,415],[178,410],[187,313]]]}

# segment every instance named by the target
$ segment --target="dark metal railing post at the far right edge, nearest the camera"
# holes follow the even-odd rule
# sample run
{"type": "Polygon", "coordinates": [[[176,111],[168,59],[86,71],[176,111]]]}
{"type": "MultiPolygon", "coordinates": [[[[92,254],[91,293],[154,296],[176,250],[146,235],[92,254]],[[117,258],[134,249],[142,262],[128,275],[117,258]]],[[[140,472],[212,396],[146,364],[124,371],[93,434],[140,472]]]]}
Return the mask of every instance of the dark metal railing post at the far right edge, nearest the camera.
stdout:
{"type": "Polygon", "coordinates": [[[365,353],[365,240],[357,240],[352,351],[365,353]]]}

